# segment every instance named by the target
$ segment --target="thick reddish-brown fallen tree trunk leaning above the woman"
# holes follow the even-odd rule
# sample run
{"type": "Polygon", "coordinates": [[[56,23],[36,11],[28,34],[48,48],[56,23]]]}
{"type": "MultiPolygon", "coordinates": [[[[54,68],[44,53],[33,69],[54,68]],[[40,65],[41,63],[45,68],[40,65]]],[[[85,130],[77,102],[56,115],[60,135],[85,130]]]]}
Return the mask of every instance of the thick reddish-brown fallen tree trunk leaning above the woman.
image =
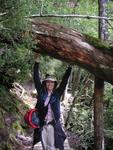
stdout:
{"type": "Polygon", "coordinates": [[[37,52],[76,64],[113,84],[113,47],[60,25],[32,20],[37,52]]]}

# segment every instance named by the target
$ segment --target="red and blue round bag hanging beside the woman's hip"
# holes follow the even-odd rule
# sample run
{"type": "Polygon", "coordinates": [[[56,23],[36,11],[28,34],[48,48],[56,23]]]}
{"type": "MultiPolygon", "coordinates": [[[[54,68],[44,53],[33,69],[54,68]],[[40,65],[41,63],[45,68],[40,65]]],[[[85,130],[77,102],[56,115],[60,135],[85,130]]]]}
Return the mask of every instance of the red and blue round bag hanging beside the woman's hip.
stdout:
{"type": "Polygon", "coordinates": [[[36,108],[29,109],[24,115],[24,120],[31,128],[40,128],[40,120],[36,108]]]}

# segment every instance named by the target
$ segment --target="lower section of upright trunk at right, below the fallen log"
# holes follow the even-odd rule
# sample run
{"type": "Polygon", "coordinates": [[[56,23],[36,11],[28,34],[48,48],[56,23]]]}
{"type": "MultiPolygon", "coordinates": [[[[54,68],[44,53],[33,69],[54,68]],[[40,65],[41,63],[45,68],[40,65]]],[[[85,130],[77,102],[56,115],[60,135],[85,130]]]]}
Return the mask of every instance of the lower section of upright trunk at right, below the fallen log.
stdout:
{"type": "Polygon", "coordinates": [[[104,82],[95,78],[94,87],[94,143],[95,150],[104,150],[104,126],[103,126],[103,92],[104,82]]]}

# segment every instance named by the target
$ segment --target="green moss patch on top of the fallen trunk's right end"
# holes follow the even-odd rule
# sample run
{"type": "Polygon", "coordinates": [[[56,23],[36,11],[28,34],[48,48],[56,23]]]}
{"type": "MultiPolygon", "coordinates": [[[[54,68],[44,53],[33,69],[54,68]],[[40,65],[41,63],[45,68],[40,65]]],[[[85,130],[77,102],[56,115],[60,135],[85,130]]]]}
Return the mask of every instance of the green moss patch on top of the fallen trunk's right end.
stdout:
{"type": "Polygon", "coordinates": [[[102,50],[105,53],[109,53],[113,55],[113,46],[110,46],[107,42],[103,42],[102,40],[92,37],[90,35],[85,35],[85,39],[88,43],[93,45],[95,48],[102,50]]]}

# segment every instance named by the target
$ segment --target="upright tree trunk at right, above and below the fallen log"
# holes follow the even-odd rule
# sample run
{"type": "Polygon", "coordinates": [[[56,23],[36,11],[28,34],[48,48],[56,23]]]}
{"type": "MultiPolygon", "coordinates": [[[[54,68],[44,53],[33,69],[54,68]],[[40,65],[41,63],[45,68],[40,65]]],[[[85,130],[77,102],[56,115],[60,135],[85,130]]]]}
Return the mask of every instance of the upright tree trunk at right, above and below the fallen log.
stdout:
{"type": "MultiPolygon", "coordinates": [[[[98,0],[99,16],[106,17],[105,0],[98,0]]],[[[99,20],[99,38],[107,40],[107,24],[103,19],[99,20]]],[[[104,121],[103,121],[103,94],[104,94],[104,80],[95,77],[94,87],[94,143],[95,150],[104,150],[104,121]]]]}

